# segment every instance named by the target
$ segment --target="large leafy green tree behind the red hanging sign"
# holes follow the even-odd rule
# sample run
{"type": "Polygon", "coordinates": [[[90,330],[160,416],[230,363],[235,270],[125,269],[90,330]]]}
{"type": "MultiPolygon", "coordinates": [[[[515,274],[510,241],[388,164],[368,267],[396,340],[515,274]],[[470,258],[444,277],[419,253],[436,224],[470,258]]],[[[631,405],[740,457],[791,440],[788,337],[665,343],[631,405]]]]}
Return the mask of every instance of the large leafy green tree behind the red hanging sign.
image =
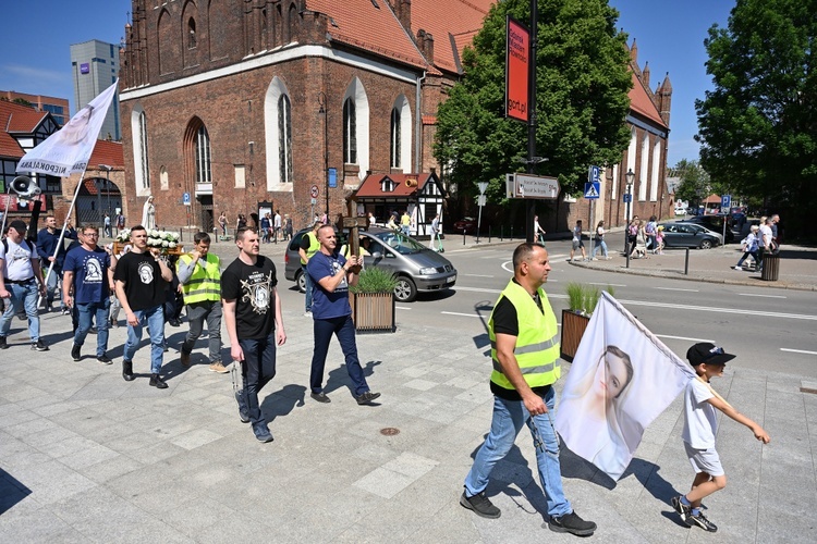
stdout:
{"type": "MultiPolygon", "coordinates": [[[[491,7],[474,47],[463,52],[464,76],[438,111],[435,156],[449,182],[467,196],[490,182],[488,199],[504,199],[504,174],[525,170],[527,125],[504,118],[505,15],[526,24],[528,0],[491,7]]],[[[626,35],[606,0],[538,2],[536,153],[541,175],[558,175],[575,194],[590,164],[613,164],[630,140],[624,123],[632,87],[626,35]]]]}

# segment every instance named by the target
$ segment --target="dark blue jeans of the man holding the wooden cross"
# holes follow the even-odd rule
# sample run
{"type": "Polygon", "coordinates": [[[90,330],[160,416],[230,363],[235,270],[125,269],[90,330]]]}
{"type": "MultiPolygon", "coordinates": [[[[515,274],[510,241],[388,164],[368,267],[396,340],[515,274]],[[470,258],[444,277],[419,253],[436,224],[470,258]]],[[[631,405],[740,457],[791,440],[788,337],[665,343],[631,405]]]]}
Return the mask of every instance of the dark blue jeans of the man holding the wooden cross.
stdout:
{"type": "Polygon", "coordinates": [[[355,325],[352,322],[352,316],[343,316],[331,319],[315,320],[315,350],[312,356],[312,371],[309,372],[309,387],[313,393],[324,391],[324,368],[326,367],[326,356],[329,353],[329,343],[332,341],[332,334],[338,336],[343,356],[346,358],[346,372],[352,379],[355,396],[359,397],[369,386],[366,383],[366,376],[363,375],[361,361],[357,359],[357,344],[355,343],[355,325]]]}

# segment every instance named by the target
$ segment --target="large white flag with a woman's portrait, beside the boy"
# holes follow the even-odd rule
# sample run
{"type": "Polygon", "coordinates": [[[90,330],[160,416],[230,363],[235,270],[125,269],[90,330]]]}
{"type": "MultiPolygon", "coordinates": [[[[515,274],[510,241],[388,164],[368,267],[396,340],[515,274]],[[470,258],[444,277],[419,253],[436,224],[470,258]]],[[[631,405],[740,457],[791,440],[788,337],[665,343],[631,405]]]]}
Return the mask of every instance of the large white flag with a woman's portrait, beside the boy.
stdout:
{"type": "Polygon", "coordinates": [[[608,293],[582,336],[556,416],[566,446],[613,480],[695,371],[608,293]]]}

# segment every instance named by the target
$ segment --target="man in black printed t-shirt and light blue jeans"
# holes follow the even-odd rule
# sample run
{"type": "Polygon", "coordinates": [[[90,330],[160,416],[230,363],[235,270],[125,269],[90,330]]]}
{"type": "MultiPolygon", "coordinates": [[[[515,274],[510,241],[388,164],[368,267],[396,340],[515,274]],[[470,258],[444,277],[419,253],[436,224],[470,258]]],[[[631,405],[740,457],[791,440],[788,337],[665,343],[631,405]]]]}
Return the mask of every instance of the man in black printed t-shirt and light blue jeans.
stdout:
{"type": "Polygon", "coordinates": [[[173,273],[161,259],[161,250],[147,248],[147,231],[131,228],[133,248],[123,255],[113,273],[117,298],[127,318],[127,342],[122,358],[122,378],[133,380],[133,356],[142,341],[142,327],[150,333],[150,385],[167,388],[159,371],[164,356],[164,287],[173,273]],[[158,258],[157,258],[158,257],[158,258]]]}

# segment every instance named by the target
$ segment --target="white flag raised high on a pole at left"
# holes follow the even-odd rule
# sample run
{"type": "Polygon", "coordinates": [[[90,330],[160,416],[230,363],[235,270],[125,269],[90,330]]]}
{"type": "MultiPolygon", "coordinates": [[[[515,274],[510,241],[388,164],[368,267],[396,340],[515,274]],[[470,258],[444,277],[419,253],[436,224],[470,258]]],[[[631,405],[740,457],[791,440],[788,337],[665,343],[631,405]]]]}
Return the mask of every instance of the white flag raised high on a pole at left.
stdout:
{"type": "Polygon", "coordinates": [[[119,79],[71,118],[65,126],[25,153],[17,163],[17,172],[60,177],[85,172],[118,85],[119,79]]]}

